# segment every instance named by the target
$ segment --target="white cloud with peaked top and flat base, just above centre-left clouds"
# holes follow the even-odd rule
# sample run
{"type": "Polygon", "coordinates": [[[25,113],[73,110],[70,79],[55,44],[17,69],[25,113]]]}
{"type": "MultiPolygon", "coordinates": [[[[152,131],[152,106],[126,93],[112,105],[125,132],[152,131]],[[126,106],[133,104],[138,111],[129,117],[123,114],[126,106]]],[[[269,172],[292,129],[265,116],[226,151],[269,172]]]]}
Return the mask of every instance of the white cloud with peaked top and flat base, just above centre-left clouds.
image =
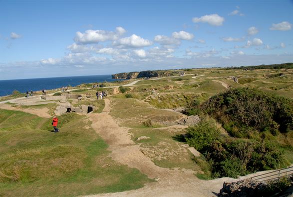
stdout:
{"type": "Polygon", "coordinates": [[[129,47],[142,47],[142,46],[150,46],[152,42],[144,39],[136,34],[132,34],[129,37],[120,38],[117,41],[113,42],[114,45],[122,45],[122,46],[129,46],[129,47]]]}

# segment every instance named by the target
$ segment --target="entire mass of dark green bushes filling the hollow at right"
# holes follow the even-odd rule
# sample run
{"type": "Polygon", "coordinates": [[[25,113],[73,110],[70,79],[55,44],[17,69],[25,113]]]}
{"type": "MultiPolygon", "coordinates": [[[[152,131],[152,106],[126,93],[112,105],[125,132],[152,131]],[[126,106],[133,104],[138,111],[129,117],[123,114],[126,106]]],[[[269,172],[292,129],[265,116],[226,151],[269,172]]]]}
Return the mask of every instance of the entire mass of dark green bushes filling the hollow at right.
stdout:
{"type": "Polygon", "coordinates": [[[234,88],[194,106],[230,134],[221,134],[215,123],[205,119],[187,129],[187,142],[205,156],[213,177],[237,177],[292,162],[292,99],[234,88]]]}

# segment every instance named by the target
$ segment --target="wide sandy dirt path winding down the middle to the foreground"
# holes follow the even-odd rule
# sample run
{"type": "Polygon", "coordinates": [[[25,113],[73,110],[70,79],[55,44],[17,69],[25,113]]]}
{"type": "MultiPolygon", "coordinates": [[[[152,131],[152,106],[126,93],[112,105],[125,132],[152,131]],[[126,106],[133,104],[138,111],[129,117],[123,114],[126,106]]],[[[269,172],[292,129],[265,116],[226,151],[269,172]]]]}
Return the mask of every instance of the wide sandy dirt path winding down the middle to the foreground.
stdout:
{"type": "Polygon", "coordinates": [[[147,183],[144,187],[117,193],[96,194],[91,196],[216,196],[224,181],[233,178],[200,180],[194,171],[186,169],[169,169],[155,165],[149,157],[140,151],[128,133],[128,128],[120,127],[109,115],[110,100],[105,99],[105,108],[101,113],[89,113],[92,127],[109,144],[111,157],[129,167],[135,167],[157,181],[147,183]],[[215,193],[213,193],[215,192],[215,193]]]}

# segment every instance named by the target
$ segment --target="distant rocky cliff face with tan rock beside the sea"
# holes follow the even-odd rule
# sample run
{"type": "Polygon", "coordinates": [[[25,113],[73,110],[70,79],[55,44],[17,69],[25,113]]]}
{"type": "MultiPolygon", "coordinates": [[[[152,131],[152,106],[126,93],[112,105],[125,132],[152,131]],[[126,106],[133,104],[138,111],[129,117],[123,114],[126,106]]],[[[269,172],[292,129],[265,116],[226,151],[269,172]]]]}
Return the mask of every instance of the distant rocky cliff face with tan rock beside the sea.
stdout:
{"type": "Polygon", "coordinates": [[[141,72],[121,72],[112,74],[112,78],[141,78],[141,77],[156,77],[156,76],[174,76],[178,75],[177,71],[166,70],[146,70],[141,72]]]}

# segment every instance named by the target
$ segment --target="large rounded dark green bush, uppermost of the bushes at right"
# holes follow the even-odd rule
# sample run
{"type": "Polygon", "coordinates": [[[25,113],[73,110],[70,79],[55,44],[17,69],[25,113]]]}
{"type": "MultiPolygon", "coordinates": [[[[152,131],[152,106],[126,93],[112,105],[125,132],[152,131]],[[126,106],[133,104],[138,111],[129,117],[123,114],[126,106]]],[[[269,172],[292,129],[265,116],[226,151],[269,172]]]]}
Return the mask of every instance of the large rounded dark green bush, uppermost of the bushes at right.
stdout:
{"type": "MultiPolygon", "coordinates": [[[[235,88],[212,96],[201,108],[229,127],[233,136],[251,130],[276,133],[293,129],[293,101],[251,88],[235,88]]],[[[229,129],[228,129],[229,131],[229,129]]]]}

